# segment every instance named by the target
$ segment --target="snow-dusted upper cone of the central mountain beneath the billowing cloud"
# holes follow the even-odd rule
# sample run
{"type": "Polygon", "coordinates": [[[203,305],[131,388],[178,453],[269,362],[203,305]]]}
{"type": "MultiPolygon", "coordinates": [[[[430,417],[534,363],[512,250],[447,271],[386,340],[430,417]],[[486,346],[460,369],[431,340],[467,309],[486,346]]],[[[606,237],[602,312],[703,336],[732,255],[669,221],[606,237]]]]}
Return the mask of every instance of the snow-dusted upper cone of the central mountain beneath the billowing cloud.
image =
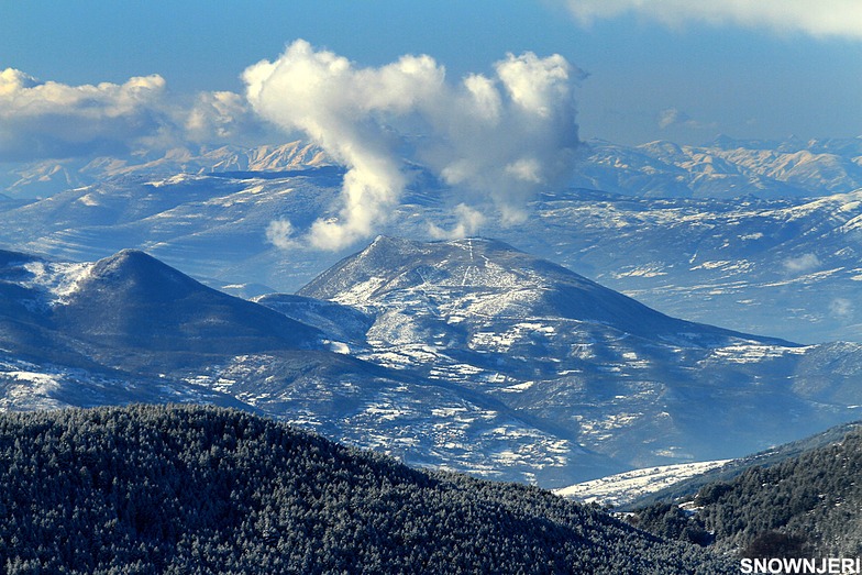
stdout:
{"type": "Polygon", "coordinates": [[[488,239],[422,243],[379,236],[299,294],[357,307],[431,306],[450,316],[576,320],[689,345],[740,339],[787,344],[671,318],[565,267],[488,239]]]}

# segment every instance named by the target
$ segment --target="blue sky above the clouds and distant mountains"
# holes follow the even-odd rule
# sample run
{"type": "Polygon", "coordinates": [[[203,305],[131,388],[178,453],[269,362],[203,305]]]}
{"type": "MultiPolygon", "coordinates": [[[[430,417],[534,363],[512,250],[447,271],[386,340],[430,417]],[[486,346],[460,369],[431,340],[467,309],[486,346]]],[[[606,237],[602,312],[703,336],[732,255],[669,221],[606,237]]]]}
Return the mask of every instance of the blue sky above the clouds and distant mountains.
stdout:
{"type": "MultiPolygon", "coordinates": [[[[805,2],[787,2],[805,10],[805,2]]],[[[453,79],[531,51],[561,54],[586,73],[574,92],[584,139],[862,134],[859,2],[807,2],[811,13],[833,10],[847,23],[825,29],[800,24],[813,20],[802,12],[791,14],[797,22],[782,20],[793,11],[781,5],[774,13],[687,14],[674,0],[642,3],[2,0],[0,69],[69,86],[159,75],[169,97],[181,100],[242,93],[243,70],[297,38],[358,66],[428,54],[453,79]]]]}

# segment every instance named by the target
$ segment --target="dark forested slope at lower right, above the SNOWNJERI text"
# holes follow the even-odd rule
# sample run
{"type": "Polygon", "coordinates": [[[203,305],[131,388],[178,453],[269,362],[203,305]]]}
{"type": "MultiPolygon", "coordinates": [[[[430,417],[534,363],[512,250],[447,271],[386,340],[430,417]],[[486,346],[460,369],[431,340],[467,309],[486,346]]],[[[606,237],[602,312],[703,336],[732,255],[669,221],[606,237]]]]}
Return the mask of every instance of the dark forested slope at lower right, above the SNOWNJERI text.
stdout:
{"type": "Polygon", "coordinates": [[[700,488],[696,512],[657,502],[632,522],[748,556],[862,555],[862,429],[771,467],[700,488]]]}

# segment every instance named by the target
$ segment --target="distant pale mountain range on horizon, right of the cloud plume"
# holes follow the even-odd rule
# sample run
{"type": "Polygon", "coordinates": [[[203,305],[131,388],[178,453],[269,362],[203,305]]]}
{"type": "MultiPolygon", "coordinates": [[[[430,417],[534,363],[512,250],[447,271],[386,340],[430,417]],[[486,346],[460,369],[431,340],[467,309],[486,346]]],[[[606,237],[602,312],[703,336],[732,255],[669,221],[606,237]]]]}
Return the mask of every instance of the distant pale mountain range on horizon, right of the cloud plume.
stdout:
{"type": "Polygon", "coordinates": [[[862,188],[862,140],[761,142],[719,137],[703,146],[589,142],[573,185],[632,196],[815,197],[862,188]]]}

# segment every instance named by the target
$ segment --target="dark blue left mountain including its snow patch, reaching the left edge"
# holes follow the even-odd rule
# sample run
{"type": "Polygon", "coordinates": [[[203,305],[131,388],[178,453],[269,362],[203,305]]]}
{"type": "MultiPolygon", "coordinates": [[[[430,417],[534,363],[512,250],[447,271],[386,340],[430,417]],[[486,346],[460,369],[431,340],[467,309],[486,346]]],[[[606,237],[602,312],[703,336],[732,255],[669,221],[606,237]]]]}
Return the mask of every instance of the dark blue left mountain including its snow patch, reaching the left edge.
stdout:
{"type": "Polygon", "coordinates": [[[135,250],[95,264],[0,252],[0,350],[135,377],[270,351],[324,351],[323,333],[203,286],[135,250]]]}

